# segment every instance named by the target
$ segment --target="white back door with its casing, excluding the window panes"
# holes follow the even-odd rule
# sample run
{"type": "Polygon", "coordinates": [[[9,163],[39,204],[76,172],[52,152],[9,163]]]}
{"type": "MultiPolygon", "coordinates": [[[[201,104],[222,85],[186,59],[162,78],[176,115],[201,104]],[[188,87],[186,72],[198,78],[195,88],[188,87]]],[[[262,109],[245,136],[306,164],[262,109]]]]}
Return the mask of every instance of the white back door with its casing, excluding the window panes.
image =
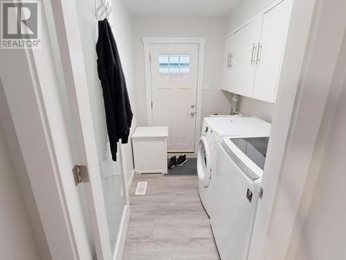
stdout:
{"type": "Polygon", "coordinates": [[[196,153],[201,133],[206,38],[144,37],[143,43],[145,49],[147,125],[161,124],[162,126],[165,123],[170,128],[169,139],[167,140],[168,152],[196,153]],[[189,53],[188,55],[190,56],[189,79],[167,80],[162,77],[160,79],[158,55],[183,55],[184,53],[189,53]],[[153,71],[157,71],[156,76],[153,71]],[[167,93],[169,92],[173,93],[173,95],[168,95],[167,93]],[[167,101],[170,102],[168,103],[167,101]],[[160,107],[163,107],[164,112],[160,110],[160,107]],[[176,109],[172,110],[173,107],[176,107],[176,109]],[[191,114],[192,112],[194,115],[191,114]],[[172,141],[173,143],[171,143],[172,141]]]}

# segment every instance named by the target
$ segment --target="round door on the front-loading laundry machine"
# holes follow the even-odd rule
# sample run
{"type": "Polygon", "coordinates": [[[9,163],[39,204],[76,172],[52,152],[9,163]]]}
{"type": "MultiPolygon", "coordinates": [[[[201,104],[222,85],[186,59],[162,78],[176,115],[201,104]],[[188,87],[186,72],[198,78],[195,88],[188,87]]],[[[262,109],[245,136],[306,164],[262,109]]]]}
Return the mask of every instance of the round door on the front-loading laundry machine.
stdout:
{"type": "Polygon", "coordinates": [[[199,139],[199,149],[197,153],[197,173],[199,182],[204,187],[208,187],[211,178],[211,157],[210,148],[206,137],[199,139]]]}

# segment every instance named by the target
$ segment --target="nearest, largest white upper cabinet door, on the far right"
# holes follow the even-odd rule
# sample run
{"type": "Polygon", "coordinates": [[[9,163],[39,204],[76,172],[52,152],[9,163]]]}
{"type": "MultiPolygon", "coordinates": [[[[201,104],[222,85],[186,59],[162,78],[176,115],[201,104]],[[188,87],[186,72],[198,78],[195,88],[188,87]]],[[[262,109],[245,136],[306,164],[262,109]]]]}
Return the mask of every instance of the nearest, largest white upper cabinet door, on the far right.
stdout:
{"type": "Polygon", "coordinates": [[[289,2],[283,1],[264,14],[253,98],[270,103],[275,103],[281,73],[291,13],[289,2]]]}

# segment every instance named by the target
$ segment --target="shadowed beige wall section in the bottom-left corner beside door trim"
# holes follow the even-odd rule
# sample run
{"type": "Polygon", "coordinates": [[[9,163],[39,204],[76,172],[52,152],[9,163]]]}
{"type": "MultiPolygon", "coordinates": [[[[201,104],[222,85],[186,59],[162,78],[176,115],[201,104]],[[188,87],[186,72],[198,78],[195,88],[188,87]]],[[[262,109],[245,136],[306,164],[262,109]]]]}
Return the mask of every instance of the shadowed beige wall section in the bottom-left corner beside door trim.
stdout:
{"type": "Polygon", "coordinates": [[[0,125],[0,259],[42,259],[0,125]]]}

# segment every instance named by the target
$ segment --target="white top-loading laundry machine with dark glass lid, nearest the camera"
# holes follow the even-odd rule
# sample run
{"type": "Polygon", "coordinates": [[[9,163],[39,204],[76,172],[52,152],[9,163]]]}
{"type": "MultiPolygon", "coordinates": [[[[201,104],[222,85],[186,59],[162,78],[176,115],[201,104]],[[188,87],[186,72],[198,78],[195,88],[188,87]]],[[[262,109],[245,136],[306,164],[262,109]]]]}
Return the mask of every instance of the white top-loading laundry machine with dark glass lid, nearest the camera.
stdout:
{"type": "Polygon", "coordinates": [[[268,135],[218,142],[210,224],[221,260],[248,259],[268,135]]]}

